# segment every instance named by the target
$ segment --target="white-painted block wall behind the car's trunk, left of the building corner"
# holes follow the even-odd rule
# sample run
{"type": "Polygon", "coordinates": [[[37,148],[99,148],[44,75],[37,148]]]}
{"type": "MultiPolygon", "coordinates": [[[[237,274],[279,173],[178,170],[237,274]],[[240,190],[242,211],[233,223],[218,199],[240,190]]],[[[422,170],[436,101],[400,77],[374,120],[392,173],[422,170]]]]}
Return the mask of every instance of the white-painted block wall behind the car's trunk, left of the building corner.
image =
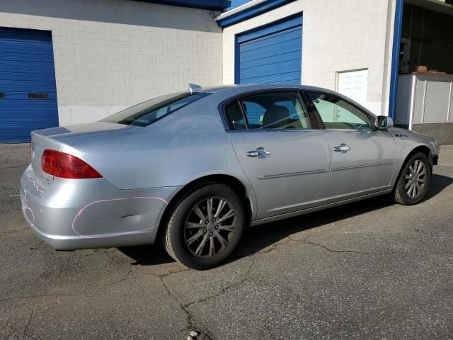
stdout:
{"type": "Polygon", "coordinates": [[[0,1],[0,26],[52,31],[60,125],[101,119],[189,82],[222,84],[217,15],[130,0],[0,1]]]}

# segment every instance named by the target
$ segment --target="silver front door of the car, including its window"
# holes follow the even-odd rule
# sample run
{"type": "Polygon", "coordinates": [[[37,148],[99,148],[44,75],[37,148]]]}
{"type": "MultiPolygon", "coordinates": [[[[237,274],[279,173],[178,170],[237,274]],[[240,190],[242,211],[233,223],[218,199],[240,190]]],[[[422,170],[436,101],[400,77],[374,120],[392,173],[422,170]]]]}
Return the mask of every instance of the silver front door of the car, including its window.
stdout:
{"type": "Polygon", "coordinates": [[[319,115],[331,157],[325,203],[389,188],[395,169],[395,140],[374,128],[374,117],[340,96],[305,91],[309,110],[319,115]]]}

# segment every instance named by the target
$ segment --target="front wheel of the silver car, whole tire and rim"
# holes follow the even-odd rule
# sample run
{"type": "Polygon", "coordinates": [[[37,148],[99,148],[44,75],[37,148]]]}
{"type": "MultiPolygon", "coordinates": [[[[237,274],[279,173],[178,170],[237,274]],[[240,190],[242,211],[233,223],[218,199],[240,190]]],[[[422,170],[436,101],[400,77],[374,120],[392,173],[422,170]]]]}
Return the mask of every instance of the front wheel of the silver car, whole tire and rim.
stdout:
{"type": "Polygon", "coordinates": [[[428,157],[422,152],[414,154],[403,166],[395,188],[394,200],[403,205],[414,205],[423,200],[431,178],[428,157]]]}

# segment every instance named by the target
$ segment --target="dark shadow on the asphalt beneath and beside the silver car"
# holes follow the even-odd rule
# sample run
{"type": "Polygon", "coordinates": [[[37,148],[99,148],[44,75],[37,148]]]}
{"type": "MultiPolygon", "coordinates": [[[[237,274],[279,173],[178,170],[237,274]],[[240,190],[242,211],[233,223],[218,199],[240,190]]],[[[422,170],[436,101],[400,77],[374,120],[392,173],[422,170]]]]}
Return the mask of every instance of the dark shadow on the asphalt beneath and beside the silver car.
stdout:
{"type": "MultiPolygon", "coordinates": [[[[430,189],[425,200],[437,196],[452,183],[453,179],[450,177],[433,174],[430,189]]],[[[378,196],[336,208],[292,217],[287,220],[248,227],[243,232],[238,248],[226,262],[236,261],[236,259],[255,254],[297,232],[335,223],[373,210],[386,208],[392,204],[389,196],[378,196]]],[[[156,240],[156,244],[127,247],[119,250],[135,261],[132,263],[133,265],[149,266],[174,262],[171,256],[166,253],[159,240],[156,240]]]]}

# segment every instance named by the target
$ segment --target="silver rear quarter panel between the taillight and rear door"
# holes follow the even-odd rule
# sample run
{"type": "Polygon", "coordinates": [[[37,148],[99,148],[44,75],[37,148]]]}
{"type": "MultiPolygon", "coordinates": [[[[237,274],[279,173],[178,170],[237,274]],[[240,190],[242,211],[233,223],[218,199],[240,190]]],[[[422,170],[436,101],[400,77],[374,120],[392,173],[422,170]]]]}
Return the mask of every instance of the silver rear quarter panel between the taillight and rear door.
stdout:
{"type": "Polygon", "coordinates": [[[226,174],[239,179],[254,202],[217,103],[203,99],[146,128],[62,141],[59,150],[84,159],[120,189],[185,186],[202,176],[226,174]]]}

